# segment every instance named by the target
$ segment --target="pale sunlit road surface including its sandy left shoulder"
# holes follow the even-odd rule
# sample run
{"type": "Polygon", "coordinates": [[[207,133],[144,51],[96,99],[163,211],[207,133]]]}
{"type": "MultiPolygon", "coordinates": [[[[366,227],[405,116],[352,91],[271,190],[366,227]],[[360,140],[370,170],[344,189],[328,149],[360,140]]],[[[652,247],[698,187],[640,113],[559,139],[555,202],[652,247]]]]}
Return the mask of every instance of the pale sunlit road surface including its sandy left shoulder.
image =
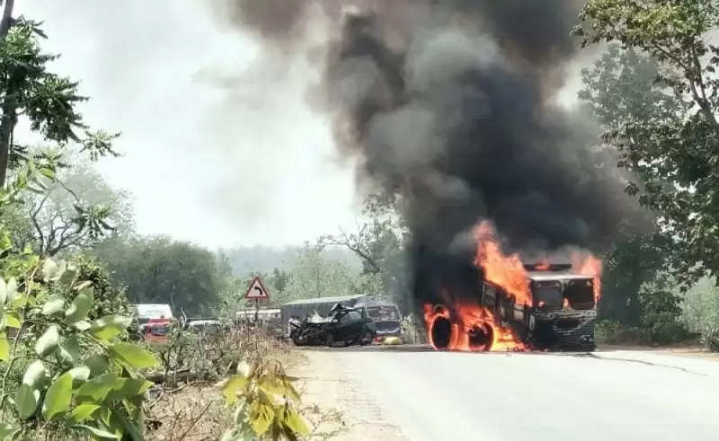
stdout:
{"type": "Polygon", "coordinates": [[[315,348],[306,400],[333,439],[719,439],[719,362],[655,352],[457,353],[315,348]]]}

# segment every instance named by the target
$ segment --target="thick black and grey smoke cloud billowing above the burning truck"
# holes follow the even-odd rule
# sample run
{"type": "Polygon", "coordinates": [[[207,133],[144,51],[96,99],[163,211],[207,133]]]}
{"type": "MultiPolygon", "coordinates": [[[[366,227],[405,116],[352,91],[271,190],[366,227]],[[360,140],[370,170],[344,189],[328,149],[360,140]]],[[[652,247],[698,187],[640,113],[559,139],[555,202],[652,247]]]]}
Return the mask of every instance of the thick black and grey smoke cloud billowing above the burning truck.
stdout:
{"type": "Polygon", "coordinates": [[[419,273],[463,278],[450,256],[468,261],[464,238],[481,218],[510,251],[531,252],[601,247],[626,216],[616,162],[591,148],[598,130],[553,101],[581,2],[315,0],[280,2],[302,4],[280,13],[269,9],[278,2],[231,3],[280,48],[327,19],[310,95],[359,158],[359,181],[402,195],[419,273]]]}

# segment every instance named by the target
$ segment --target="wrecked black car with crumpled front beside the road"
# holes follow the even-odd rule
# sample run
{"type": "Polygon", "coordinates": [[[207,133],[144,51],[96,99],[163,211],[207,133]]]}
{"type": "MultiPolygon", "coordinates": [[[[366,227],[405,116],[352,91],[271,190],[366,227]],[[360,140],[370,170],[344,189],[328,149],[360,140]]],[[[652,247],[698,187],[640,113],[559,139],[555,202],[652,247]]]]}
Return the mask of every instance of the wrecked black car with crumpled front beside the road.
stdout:
{"type": "Polygon", "coordinates": [[[306,316],[302,322],[290,321],[290,338],[295,345],[368,345],[375,339],[375,323],[365,308],[338,306],[328,317],[314,314],[306,316]]]}

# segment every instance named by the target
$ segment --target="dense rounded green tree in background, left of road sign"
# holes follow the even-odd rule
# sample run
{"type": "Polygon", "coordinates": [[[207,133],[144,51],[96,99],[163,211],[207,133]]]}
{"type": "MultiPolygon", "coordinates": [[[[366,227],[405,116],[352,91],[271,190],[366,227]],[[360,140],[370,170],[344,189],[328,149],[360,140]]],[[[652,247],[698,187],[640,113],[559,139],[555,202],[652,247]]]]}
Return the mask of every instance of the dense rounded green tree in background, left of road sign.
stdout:
{"type": "Polygon", "coordinates": [[[167,237],[111,237],[93,249],[132,303],[170,304],[173,312],[209,314],[221,302],[224,280],[216,256],[167,237]]]}

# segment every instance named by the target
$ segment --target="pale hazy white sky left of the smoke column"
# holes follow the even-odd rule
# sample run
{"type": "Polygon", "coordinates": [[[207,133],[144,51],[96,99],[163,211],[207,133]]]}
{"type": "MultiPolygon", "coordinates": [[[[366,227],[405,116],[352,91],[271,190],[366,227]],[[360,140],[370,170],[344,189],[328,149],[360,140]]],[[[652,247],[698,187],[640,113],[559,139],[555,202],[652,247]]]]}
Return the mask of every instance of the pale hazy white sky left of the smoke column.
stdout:
{"type": "Polygon", "coordinates": [[[44,49],[62,54],[53,69],[92,97],[85,121],[122,132],[125,156],[99,169],[134,194],[139,233],[280,245],[350,225],[351,164],[305,104],[316,72],[268,70],[270,57],[208,4],[17,0],[15,14],[45,21],[44,49]]]}

